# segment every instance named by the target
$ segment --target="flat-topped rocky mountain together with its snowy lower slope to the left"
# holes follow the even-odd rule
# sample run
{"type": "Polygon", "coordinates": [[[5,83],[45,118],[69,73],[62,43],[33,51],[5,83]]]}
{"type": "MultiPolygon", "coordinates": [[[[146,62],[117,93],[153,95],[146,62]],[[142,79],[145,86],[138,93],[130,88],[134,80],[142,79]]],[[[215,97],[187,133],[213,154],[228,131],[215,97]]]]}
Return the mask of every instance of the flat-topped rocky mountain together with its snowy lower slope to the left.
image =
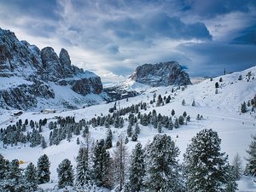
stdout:
{"type": "Polygon", "coordinates": [[[191,84],[189,74],[183,72],[177,61],[143,64],[125,81],[108,86],[104,91],[112,101],[138,96],[145,91],[154,91],[159,86],[191,84]]]}

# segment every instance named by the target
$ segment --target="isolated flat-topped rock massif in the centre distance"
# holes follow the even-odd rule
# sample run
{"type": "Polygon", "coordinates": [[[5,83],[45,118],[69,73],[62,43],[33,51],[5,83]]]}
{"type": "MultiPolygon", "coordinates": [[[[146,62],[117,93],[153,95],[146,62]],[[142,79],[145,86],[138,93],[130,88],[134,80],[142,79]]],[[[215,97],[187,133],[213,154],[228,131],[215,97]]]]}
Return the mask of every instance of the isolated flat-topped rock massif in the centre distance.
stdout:
{"type": "Polygon", "coordinates": [[[150,86],[186,85],[191,84],[189,74],[183,72],[176,61],[144,64],[136,68],[129,79],[150,86]]]}

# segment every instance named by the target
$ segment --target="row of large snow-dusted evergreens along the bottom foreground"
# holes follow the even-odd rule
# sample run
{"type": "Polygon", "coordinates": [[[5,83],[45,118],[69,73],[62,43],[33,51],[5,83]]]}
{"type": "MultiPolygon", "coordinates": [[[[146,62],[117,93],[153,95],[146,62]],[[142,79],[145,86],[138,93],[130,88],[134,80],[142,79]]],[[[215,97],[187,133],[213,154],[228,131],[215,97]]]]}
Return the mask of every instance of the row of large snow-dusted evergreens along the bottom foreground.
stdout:
{"type": "MultiPolygon", "coordinates": [[[[255,137],[256,138],[256,137],[255,137]]],[[[255,140],[255,138],[253,138],[255,140]]],[[[119,137],[119,145],[110,156],[105,140],[79,148],[77,166],[70,160],[62,160],[57,167],[59,189],[70,186],[76,191],[101,187],[116,191],[236,191],[236,172],[230,166],[227,155],[220,151],[221,140],[217,132],[202,130],[192,138],[184,154],[183,165],[177,161],[179,149],[170,136],[155,135],[143,148],[137,143],[131,159],[125,146],[125,137],[119,137]],[[130,162],[130,163],[129,163],[130,162]]],[[[253,142],[248,153],[253,161],[253,142]]],[[[0,155],[0,190],[34,191],[38,183],[49,182],[49,159],[46,154],[38,159],[35,167],[30,163],[25,170],[19,161],[5,160],[0,155]]],[[[255,165],[254,165],[255,166],[255,165]]],[[[248,166],[253,175],[254,166],[248,166]]]]}

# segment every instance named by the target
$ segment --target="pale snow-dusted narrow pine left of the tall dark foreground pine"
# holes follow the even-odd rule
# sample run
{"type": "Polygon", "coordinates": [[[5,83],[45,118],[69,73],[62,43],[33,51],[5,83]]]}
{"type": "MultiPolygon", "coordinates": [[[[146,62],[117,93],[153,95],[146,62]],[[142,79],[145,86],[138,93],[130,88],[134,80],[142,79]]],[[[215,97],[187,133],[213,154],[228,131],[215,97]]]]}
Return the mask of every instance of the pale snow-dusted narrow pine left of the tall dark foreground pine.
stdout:
{"type": "Polygon", "coordinates": [[[90,180],[89,152],[87,148],[79,148],[75,185],[81,189],[90,180]]]}

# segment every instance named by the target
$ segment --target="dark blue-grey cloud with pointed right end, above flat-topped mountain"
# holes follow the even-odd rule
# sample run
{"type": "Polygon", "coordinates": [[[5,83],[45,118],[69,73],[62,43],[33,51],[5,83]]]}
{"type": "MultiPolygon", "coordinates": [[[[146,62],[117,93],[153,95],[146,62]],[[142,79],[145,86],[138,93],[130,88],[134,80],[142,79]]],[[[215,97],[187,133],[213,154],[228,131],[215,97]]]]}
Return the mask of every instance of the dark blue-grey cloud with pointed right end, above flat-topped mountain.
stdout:
{"type": "Polygon", "coordinates": [[[119,20],[108,20],[105,27],[118,38],[128,38],[134,41],[144,41],[148,38],[212,38],[203,23],[185,24],[179,18],[163,13],[143,15],[143,17],[135,19],[125,17],[119,20]]]}

